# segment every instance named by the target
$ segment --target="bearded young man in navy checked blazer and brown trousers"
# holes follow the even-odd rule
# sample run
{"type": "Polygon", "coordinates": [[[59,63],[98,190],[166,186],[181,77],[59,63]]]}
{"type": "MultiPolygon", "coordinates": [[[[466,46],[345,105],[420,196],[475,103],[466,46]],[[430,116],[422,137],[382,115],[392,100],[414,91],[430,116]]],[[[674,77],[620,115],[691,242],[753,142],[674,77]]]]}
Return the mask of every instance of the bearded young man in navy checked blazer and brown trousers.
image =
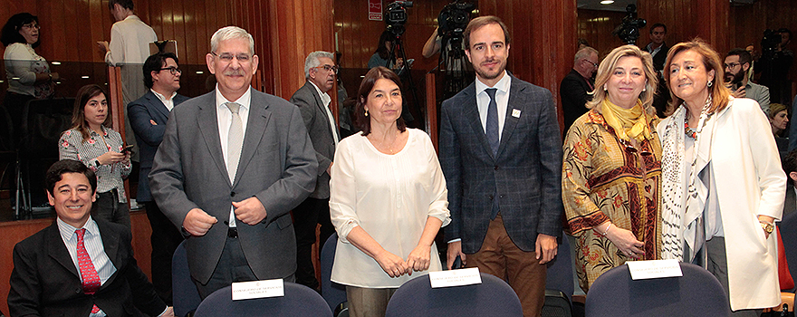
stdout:
{"type": "Polygon", "coordinates": [[[551,91],[505,71],[510,37],[481,16],[464,33],[476,81],[443,102],[440,164],[448,186],[448,267],[509,283],[523,315],[539,316],[545,263],[562,233],[562,140],[551,91]]]}

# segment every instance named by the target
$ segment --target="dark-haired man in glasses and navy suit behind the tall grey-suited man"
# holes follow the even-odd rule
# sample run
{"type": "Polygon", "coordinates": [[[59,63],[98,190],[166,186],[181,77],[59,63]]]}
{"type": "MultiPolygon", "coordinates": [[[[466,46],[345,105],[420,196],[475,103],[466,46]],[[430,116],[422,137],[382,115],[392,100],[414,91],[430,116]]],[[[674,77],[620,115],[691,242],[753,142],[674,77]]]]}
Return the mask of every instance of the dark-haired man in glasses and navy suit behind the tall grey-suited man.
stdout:
{"type": "Polygon", "coordinates": [[[149,91],[128,104],[128,116],[136,144],[139,145],[139,192],[136,200],[147,208],[152,235],[152,283],[163,302],[171,304],[171,256],[174,255],[183,236],[178,228],[163,215],[155,199],[149,193],[149,171],[158,151],[163,132],[166,130],[168,113],[188,97],[178,94],[180,74],[178,57],[174,53],[156,53],[144,62],[144,85],[149,91]]]}

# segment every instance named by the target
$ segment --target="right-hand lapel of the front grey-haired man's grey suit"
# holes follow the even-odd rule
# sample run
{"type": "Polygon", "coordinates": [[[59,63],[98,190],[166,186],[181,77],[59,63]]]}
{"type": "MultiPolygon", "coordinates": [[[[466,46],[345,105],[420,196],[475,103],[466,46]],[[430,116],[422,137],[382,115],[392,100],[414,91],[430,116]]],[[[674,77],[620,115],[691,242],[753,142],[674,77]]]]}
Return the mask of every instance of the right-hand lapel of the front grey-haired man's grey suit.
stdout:
{"type": "Polygon", "coordinates": [[[241,150],[241,159],[238,161],[238,168],[235,172],[235,182],[233,187],[238,184],[240,178],[246,170],[246,165],[254,157],[254,151],[257,145],[263,139],[265,127],[268,125],[268,120],[271,117],[271,111],[268,110],[268,103],[263,100],[263,96],[258,91],[252,90],[252,99],[249,102],[249,119],[246,121],[246,131],[244,136],[244,149],[241,150]]]}

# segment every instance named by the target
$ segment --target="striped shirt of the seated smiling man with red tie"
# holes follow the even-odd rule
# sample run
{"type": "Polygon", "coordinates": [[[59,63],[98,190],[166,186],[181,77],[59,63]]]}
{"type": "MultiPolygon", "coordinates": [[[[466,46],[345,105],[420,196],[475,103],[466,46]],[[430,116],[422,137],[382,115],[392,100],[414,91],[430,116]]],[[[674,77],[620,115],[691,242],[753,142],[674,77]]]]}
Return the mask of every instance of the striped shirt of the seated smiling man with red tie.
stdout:
{"type": "MultiPolygon", "coordinates": [[[[77,250],[78,235],[75,233],[75,230],[78,230],[78,228],[63,222],[60,217],[55,222],[58,224],[58,231],[61,233],[63,245],[66,245],[66,250],[69,251],[69,256],[72,257],[72,263],[75,264],[75,269],[77,269],[77,272],[80,274],[81,266],[78,264],[77,250]]],[[[83,235],[83,246],[86,247],[86,253],[88,253],[91,258],[91,264],[94,264],[94,269],[97,271],[97,274],[100,275],[100,284],[103,285],[108,281],[110,275],[116,273],[116,267],[113,266],[113,263],[110,262],[110,258],[105,254],[105,247],[102,245],[102,237],[100,236],[100,228],[97,226],[97,223],[94,222],[94,219],[91,219],[91,216],[89,216],[89,220],[86,221],[83,228],[86,229],[86,233],[83,235]]],[[[83,277],[81,276],[81,283],[82,282],[83,277]]],[[[102,311],[89,314],[89,317],[103,316],[105,316],[105,312],[102,311]]]]}

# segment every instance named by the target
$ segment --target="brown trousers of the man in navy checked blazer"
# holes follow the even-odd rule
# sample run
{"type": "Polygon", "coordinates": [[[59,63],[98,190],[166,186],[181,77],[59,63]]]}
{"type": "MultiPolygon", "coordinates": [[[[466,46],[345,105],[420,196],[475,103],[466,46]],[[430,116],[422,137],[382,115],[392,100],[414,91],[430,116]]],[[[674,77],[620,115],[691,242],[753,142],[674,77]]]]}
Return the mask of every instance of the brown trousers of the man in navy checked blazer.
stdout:
{"type": "Polygon", "coordinates": [[[509,283],[523,305],[523,316],[540,316],[545,302],[546,266],[540,264],[536,253],[519,249],[504,228],[499,213],[490,221],[482,248],[466,256],[466,267],[478,267],[479,272],[493,274],[509,283]]]}

